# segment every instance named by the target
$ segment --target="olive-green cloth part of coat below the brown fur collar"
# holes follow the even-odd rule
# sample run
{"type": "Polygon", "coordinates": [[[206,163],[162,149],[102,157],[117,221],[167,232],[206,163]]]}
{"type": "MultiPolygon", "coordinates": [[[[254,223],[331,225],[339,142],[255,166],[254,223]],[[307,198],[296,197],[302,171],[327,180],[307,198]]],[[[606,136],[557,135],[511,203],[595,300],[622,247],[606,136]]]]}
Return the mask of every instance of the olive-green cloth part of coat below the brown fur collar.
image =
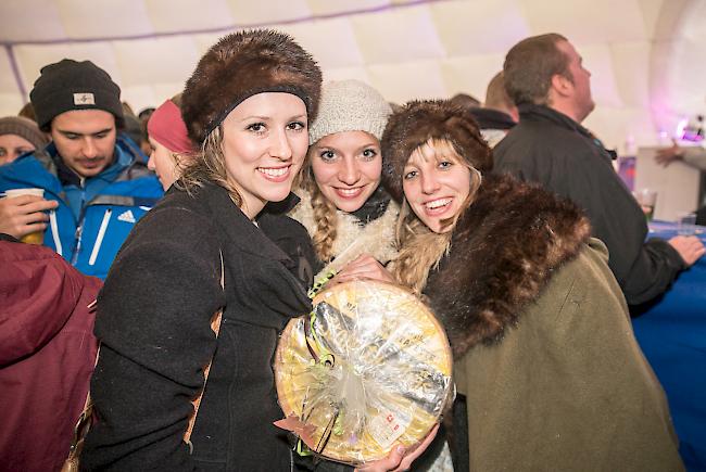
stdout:
{"type": "Polygon", "coordinates": [[[665,393],[606,263],[592,240],[501,343],[455,363],[471,471],[683,470],[665,393]]]}

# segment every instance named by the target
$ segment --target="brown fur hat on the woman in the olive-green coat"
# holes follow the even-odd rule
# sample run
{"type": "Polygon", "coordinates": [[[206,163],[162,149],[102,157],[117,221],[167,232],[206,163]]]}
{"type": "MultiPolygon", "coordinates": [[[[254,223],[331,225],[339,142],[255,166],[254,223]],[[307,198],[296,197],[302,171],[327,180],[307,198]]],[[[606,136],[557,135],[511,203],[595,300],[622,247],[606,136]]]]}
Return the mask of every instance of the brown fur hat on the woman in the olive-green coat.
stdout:
{"type": "Polygon", "coordinates": [[[478,125],[450,100],[411,101],[393,113],[382,133],[382,182],[393,199],[402,201],[402,171],[415,149],[429,139],[445,139],[458,155],[481,173],[493,168],[490,148],[478,125]]]}

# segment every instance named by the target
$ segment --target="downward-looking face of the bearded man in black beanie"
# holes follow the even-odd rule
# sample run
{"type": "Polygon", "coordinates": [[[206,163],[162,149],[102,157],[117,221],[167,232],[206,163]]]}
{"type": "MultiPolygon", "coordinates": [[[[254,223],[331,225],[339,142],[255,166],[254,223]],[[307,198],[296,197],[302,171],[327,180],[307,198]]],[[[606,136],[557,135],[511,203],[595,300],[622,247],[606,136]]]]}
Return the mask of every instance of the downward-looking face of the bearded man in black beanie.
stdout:
{"type": "Polygon", "coordinates": [[[102,110],[72,110],[51,122],[59,155],[81,178],[99,175],[113,162],[115,117],[102,110]]]}

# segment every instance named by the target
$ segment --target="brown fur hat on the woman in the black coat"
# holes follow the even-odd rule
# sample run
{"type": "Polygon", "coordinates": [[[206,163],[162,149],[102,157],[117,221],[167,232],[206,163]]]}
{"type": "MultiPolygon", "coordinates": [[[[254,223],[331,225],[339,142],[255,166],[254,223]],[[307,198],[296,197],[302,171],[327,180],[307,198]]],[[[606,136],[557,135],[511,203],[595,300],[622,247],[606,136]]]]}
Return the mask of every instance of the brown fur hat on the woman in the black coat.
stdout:
{"type": "Polygon", "coordinates": [[[187,80],[181,116],[189,138],[201,144],[243,100],[263,92],[292,93],[316,117],[322,71],[310,53],[283,33],[253,29],[222,38],[187,80]]]}

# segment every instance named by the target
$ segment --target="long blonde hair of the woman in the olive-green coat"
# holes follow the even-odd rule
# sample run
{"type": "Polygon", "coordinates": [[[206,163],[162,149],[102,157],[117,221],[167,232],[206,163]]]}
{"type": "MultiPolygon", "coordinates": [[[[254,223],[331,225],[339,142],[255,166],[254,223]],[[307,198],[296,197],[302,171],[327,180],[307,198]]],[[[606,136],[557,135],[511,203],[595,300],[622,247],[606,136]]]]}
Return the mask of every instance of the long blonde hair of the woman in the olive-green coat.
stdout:
{"type": "MultiPolygon", "coordinates": [[[[411,288],[416,293],[421,293],[427,284],[429,270],[438,267],[442,257],[451,250],[451,237],[456,222],[476,200],[482,177],[480,171],[463,158],[454,145],[445,139],[431,138],[416,148],[413,154],[416,152],[425,161],[438,161],[443,157],[470,170],[468,196],[456,215],[441,221],[442,227],[446,229],[444,232],[431,231],[412,211],[406,197],[403,199],[396,227],[396,243],[400,248],[400,256],[396,260],[393,260],[390,269],[400,283],[411,288]]],[[[401,175],[399,178],[402,179],[403,176],[401,175]]]]}

